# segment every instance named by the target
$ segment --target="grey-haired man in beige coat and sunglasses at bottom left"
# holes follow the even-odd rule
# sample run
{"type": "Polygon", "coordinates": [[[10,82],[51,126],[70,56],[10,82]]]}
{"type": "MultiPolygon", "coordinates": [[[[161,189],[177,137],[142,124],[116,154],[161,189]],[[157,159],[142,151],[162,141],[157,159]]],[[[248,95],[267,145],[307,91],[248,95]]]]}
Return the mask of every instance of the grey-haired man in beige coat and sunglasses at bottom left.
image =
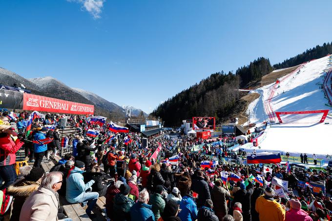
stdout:
{"type": "MultiPolygon", "coordinates": [[[[50,172],[41,182],[38,190],[33,192],[23,203],[20,221],[54,221],[58,220],[57,191],[62,185],[62,173],[50,172]]],[[[70,218],[63,221],[71,221],[70,218]]]]}

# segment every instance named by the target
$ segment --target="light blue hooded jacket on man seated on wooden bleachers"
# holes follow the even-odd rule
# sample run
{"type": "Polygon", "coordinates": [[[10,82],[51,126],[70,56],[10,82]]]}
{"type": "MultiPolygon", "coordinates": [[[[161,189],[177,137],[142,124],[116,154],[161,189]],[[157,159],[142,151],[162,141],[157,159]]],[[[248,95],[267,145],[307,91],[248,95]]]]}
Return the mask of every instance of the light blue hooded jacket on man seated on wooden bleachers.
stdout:
{"type": "Polygon", "coordinates": [[[69,176],[66,178],[66,200],[70,203],[78,202],[80,196],[95,183],[94,180],[84,183],[82,175],[84,172],[76,166],[69,171],[69,176]]]}

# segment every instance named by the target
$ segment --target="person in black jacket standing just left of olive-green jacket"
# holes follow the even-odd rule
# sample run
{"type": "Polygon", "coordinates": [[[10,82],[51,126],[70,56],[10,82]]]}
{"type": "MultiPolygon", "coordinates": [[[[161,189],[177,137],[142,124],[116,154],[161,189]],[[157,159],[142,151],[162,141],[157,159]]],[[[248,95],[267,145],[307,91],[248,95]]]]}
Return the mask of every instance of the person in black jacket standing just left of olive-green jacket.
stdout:
{"type": "Polygon", "coordinates": [[[203,172],[201,170],[196,171],[196,176],[193,176],[191,190],[198,194],[198,208],[203,206],[206,200],[211,200],[208,184],[207,181],[204,181],[203,172]]]}

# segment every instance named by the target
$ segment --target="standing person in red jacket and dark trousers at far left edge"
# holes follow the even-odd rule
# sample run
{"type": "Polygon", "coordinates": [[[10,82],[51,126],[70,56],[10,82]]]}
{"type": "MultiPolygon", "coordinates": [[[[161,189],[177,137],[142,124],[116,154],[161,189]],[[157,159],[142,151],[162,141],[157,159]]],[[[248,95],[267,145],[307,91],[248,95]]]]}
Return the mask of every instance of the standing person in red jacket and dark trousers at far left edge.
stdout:
{"type": "Polygon", "coordinates": [[[11,135],[17,136],[15,129],[9,124],[6,117],[0,118],[0,176],[4,181],[1,189],[13,184],[17,178],[14,164],[16,161],[15,153],[24,144],[24,135],[20,134],[14,141],[11,135]]]}

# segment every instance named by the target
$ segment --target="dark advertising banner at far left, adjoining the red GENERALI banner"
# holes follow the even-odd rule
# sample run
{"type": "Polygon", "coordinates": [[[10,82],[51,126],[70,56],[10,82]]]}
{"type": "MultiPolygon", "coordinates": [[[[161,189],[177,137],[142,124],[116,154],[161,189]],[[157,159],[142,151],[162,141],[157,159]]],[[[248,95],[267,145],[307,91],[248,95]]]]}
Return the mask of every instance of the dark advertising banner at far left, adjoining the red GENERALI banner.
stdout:
{"type": "Polygon", "coordinates": [[[23,94],[17,91],[0,89],[0,108],[22,109],[23,94]]]}

